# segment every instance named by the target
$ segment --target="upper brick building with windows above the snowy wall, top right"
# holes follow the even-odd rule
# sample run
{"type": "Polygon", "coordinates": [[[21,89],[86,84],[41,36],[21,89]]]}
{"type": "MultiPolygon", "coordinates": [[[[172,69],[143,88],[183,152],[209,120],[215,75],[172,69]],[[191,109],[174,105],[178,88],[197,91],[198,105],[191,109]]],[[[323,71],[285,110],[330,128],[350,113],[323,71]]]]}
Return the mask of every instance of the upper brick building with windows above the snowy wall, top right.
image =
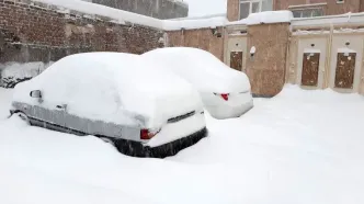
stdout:
{"type": "Polygon", "coordinates": [[[364,12],[363,0],[228,0],[227,18],[237,21],[250,13],[291,10],[295,18],[364,12]]]}

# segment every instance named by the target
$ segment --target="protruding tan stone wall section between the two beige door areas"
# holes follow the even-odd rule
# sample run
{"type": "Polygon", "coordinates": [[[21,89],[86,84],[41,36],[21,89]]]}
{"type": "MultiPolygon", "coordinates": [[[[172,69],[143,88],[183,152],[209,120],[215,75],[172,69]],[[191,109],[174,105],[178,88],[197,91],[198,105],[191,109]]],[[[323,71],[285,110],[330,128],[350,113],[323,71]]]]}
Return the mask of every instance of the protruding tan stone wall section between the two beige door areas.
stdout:
{"type": "Polygon", "coordinates": [[[289,24],[275,23],[248,27],[248,50],[255,47],[253,58],[247,53],[247,75],[252,93],[262,97],[277,94],[285,82],[286,47],[289,24]]]}

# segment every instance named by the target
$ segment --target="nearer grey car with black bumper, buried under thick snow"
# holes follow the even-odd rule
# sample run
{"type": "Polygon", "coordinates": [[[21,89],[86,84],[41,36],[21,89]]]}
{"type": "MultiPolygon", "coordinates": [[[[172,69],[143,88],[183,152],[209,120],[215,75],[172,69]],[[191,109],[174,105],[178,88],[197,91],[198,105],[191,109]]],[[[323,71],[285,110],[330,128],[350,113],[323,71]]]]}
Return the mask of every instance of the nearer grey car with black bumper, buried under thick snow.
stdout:
{"type": "Polygon", "coordinates": [[[31,125],[94,135],[135,157],[163,158],[207,134],[198,92],[139,55],[76,54],[15,86],[11,114],[31,125]]]}

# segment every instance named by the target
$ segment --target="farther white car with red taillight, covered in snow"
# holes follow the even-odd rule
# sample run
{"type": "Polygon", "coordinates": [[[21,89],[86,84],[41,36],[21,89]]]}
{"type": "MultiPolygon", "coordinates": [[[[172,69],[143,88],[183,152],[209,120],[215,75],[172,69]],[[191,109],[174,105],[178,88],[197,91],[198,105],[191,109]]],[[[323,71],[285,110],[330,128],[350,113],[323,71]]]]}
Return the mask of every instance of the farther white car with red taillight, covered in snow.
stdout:
{"type": "Polygon", "coordinates": [[[253,107],[247,75],[231,69],[208,52],[166,47],[141,56],[192,83],[200,91],[205,109],[215,118],[239,117],[253,107]]]}

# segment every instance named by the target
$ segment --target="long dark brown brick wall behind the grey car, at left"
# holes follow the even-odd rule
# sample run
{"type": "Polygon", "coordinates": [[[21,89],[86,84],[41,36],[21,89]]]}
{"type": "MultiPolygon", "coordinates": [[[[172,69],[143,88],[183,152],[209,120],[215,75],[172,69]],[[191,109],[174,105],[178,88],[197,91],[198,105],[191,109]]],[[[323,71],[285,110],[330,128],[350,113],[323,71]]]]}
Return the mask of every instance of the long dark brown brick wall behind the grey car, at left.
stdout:
{"type": "Polygon", "coordinates": [[[0,0],[0,63],[49,61],[82,52],[141,54],[160,46],[163,32],[121,25],[29,0],[0,0]]]}

